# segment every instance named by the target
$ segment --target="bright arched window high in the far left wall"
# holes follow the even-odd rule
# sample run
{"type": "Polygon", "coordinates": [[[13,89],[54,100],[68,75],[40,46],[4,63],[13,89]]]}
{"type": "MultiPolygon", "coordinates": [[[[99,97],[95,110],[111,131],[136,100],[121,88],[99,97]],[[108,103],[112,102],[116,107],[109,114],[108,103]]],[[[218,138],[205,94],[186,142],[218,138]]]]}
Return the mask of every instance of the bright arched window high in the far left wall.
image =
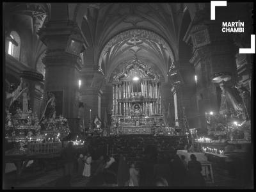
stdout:
{"type": "Polygon", "coordinates": [[[20,60],[20,36],[16,31],[10,33],[10,41],[8,42],[8,54],[20,60]]]}

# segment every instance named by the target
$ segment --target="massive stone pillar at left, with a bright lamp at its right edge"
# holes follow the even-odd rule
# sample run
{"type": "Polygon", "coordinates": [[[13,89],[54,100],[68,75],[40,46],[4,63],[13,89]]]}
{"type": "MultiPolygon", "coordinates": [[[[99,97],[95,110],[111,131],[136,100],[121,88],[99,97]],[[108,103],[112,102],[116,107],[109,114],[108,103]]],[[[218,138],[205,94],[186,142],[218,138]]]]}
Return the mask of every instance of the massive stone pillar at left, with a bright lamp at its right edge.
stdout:
{"type": "Polygon", "coordinates": [[[76,22],[51,20],[45,24],[45,28],[40,28],[38,35],[47,46],[47,52],[43,59],[45,94],[58,92],[60,98],[56,98],[56,100],[62,102],[59,106],[60,111],[62,109],[62,115],[66,118],[77,118],[78,80],[81,70],[79,55],[84,47],[86,48],[83,32],[76,22]]]}

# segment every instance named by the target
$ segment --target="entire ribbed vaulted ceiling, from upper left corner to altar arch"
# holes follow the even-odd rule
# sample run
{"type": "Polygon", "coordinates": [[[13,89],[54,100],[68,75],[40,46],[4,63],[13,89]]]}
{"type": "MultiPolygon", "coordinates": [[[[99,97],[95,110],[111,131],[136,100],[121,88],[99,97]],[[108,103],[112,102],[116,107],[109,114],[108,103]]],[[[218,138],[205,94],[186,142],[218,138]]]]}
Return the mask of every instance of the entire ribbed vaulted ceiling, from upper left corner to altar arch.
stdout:
{"type": "MultiPolygon", "coordinates": [[[[192,15],[198,5],[10,3],[5,6],[15,14],[36,18],[32,24],[37,24],[38,28],[45,20],[75,20],[88,42],[84,56],[86,65],[99,66],[108,80],[120,72],[120,63],[138,58],[166,81],[168,68],[173,61],[179,60],[180,26],[184,12],[189,9],[192,15]]],[[[29,22],[31,24],[31,21],[26,23],[29,22]]]]}

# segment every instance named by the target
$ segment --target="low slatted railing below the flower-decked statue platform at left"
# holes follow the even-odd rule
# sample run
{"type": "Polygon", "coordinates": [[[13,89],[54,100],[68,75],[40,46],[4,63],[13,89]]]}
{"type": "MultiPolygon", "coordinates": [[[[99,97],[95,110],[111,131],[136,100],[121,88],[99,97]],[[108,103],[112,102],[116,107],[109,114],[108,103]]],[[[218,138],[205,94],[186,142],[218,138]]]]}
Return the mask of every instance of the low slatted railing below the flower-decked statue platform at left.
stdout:
{"type": "Polygon", "coordinates": [[[58,154],[61,151],[61,143],[29,143],[29,154],[58,154]]]}

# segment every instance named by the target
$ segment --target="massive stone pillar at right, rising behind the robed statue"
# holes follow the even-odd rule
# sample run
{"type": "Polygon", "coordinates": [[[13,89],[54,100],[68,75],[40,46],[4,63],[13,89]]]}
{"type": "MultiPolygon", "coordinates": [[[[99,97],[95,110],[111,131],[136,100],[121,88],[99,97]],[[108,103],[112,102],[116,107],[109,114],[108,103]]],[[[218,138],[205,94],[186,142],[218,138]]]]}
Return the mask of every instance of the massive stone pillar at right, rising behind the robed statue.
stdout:
{"type": "MultiPolygon", "coordinates": [[[[218,20],[209,19],[207,10],[196,12],[191,28],[184,39],[193,44],[193,56],[190,63],[195,67],[197,76],[196,97],[202,98],[205,110],[218,113],[220,103],[216,95],[216,85],[212,76],[218,72],[229,72],[230,84],[237,81],[236,51],[229,33],[222,33],[218,20]]],[[[200,111],[200,110],[199,110],[200,111]]],[[[201,115],[204,115],[204,109],[201,115]]]]}

